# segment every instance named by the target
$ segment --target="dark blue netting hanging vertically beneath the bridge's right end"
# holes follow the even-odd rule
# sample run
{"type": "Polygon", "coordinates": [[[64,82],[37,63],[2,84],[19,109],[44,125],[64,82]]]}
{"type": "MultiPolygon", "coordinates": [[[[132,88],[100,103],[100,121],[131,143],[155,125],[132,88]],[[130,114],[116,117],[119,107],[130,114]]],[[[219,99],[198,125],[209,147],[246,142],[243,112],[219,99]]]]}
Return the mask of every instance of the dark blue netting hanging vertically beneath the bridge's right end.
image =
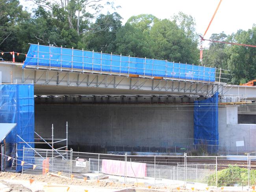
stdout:
{"type": "Polygon", "coordinates": [[[218,95],[206,100],[195,101],[194,105],[194,143],[218,145],[218,95]]]}

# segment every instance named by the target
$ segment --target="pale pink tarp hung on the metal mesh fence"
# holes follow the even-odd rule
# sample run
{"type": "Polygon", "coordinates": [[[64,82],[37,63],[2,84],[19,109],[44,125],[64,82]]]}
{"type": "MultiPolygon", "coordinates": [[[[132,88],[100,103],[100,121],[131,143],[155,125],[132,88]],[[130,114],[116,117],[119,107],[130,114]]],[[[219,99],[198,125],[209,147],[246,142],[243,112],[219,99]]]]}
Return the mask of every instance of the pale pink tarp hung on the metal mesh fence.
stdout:
{"type": "MultiPolygon", "coordinates": [[[[126,176],[128,177],[146,177],[146,163],[141,162],[126,162],[126,176]]],[[[102,173],[111,175],[121,175],[125,174],[125,162],[102,159],[102,173]]]]}

